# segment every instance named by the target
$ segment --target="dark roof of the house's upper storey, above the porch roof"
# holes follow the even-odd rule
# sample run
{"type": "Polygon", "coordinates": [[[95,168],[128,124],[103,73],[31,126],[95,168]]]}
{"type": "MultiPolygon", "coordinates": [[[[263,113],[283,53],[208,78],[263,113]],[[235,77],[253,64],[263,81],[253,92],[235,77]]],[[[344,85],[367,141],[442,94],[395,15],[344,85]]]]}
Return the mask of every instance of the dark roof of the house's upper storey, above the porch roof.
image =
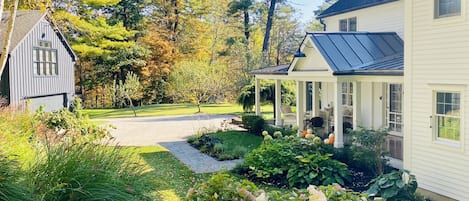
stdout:
{"type": "Polygon", "coordinates": [[[329,17],[333,15],[338,15],[358,9],[368,8],[372,6],[377,6],[393,1],[398,0],[339,0],[334,3],[332,6],[321,12],[318,15],[318,18],[329,17]]]}

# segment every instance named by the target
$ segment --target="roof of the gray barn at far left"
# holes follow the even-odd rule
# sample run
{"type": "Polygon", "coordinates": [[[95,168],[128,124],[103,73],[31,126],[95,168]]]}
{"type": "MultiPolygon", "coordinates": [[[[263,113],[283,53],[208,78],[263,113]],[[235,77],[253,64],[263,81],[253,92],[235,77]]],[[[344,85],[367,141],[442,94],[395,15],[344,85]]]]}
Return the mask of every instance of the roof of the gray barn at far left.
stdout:
{"type": "MultiPolygon", "coordinates": [[[[18,44],[23,40],[24,37],[28,35],[28,33],[39,23],[41,19],[46,17],[47,14],[41,13],[39,10],[21,10],[16,12],[15,18],[15,26],[13,28],[13,33],[11,35],[10,40],[10,52],[18,46],[18,44]]],[[[3,47],[3,43],[5,40],[6,29],[8,27],[8,19],[10,18],[10,12],[4,11],[2,14],[2,19],[0,21],[0,47],[3,47]]],[[[54,28],[57,36],[62,41],[62,44],[67,49],[68,53],[75,61],[76,55],[73,52],[72,48],[65,40],[64,35],[60,32],[60,30],[52,25],[54,28]]],[[[2,50],[0,49],[0,52],[2,50]]]]}

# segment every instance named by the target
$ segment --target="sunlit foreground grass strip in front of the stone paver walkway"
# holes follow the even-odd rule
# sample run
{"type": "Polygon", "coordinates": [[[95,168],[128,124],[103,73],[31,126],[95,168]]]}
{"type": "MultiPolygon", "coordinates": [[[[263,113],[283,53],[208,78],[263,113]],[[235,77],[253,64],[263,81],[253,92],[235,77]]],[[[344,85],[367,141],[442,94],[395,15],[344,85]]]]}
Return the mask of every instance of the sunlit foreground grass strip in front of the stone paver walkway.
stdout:
{"type": "Polygon", "coordinates": [[[187,191],[207,180],[211,174],[196,174],[162,146],[136,148],[143,160],[152,167],[146,176],[154,180],[154,195],[160,200],[181,200],[187,191]]]}

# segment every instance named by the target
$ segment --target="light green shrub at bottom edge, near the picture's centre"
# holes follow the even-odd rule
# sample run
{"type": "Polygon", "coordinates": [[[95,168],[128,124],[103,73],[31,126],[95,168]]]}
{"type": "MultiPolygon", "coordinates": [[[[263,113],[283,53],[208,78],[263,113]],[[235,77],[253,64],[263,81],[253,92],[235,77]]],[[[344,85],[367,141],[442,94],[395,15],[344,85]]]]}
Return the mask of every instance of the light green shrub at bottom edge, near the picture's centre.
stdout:
{"type": "Polygon", "coordinates": [[[217,173],[206,182],[189,189],[185,200],[256,200],[257,186],[248,181],[239,181],[226,173],[217,173]]]}

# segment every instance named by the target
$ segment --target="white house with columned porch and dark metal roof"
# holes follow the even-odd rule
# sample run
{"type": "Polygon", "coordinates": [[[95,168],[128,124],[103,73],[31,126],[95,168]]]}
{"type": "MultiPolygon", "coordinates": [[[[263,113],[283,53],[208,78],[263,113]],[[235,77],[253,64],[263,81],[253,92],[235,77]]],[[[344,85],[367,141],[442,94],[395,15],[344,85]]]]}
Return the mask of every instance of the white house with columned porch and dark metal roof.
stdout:
{"type": "Polygon", "coordinates": [[[415,174],[433,200],[469,200],[467,4],[339,0],[319,15],[324,32],[307,33],[290,65],[253,71],[256,84],[275,80],[281,117],[281,81],[296,81],[296,124],[325,118],[335,147],[343,146],[344,122],[389,128],[394,167],[415,174]]]}

